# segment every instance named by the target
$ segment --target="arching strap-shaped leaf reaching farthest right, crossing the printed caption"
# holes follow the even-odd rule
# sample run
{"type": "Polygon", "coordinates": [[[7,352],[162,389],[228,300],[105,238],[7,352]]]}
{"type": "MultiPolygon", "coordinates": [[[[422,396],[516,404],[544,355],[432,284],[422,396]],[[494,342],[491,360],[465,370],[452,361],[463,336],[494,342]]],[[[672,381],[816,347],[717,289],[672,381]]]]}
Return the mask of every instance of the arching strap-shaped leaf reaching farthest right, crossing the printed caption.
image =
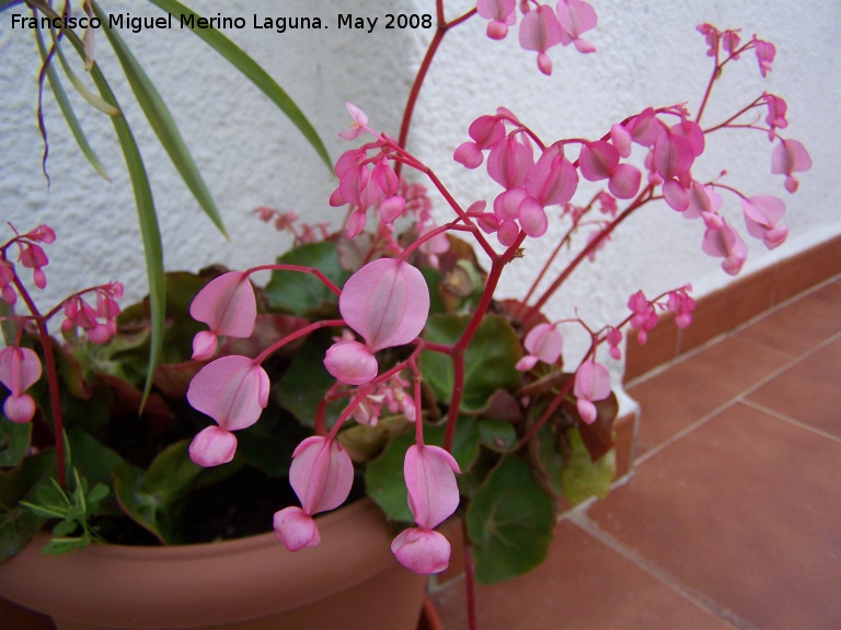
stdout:
{"type": "MultiPolygon", "coordinates": [[[[182,15],[198,16],[188,8],[184,7],[176,0],[149,0],[152,4],[155,4],[164,11],[172,13],[176,18],[182,15]]],[[[193,33],[198,35],[205,43],[214,50],[219,52],[224,59],[228,60],[231,66],[242,72],[256,88],[258,88],[277,107],[286,114],[286,117],[298,127],[298,130],[309,141],[310,145],[315,150],[319,156],[322,159],[327,168],[333,172],[333,163],[330,159],[324,142],[322,142],[315,128],[303,115],[303,112],[296,105],[289,95],[272,79],[272,77],[260,67],[249,55],[246,55],[240,47],[233,42],[228,39],[216,28],[193,28],[193,33]]]]}

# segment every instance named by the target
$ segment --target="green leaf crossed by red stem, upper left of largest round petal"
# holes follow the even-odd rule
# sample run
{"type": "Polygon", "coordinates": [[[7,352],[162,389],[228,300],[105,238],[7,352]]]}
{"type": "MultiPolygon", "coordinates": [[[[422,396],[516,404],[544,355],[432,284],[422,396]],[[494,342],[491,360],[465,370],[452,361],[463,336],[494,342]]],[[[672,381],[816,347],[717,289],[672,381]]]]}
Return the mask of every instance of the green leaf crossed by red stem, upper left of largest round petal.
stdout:
{"type": "MultiPolygon", "coordinates": [[[[313,267],[331,282],[341,287],[349,277],[338,265],[335,244],[329,241],[308,243],[290,249],[277,259],[279,265],[313,267]]],[[[338,296],[310,273],[300,271],[273,271],[263,295],[272,308],[292,315],[318,316],[335,310],[338,296]]]]}

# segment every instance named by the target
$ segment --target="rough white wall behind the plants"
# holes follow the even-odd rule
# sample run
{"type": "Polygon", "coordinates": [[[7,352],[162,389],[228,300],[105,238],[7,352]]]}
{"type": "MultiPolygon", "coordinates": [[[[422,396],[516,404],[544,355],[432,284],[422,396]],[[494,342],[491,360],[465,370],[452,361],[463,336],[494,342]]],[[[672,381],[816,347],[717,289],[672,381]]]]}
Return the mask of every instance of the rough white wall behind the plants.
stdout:
{"type": "MultiPolygon", "coordinates": [[[[479,198],[491,200],[497,192],[484,171],[471,173],[456,164],[452,151],[468,139],[469,124],[498,105],[512,109],[549,140],[601,136],[612,122],[647,105],[688,102],[696,108],[711,65],[695,25],[712,22],[722,28],[740,26],[745,37],[757,33],[775,43],[777,57],[767,81],[759,77],[752,52],[728,68],[705,120],[719,119],[733,110],[734,103],[747,104],[763,90],[780,94],[788,103],[785,136],[803,141],[815,163],[811,172],[802,175],[800,191],[790,196],[782,178],[770,175],[771,144],[761,133],[710,138],[711,149],[693,171],[696,178],[727,168],[727,183],[749,195],[781,196],[788,207],[788,242],[767,252],[750,240],[742,273],[841,233],[837,201],[841,178],[834,174],[841,149],[837,106],[841,72],[836,61],[841,4],[813,0],[800,4],[795,18],[791,3],[782,0],[592,3],[599,26],[588,38],[598,52],[581,56],[572,47],[553,49],[551,78],[538,72],[534,54],[519,48],[516,33],[505,42],[492,42],[484,35],[484,22],[472,20],[447,35],[418,102],[410,148],[452,187],[459,200],[469,205],[479,198]]],[[[327,20],[331,30],[320,33],[280,35],[249,28],[227,34],[287,89],[325,138],[334,159],[347,148],[335,138],[347,122],[345,101],[365,109],[372,125],[396,136],[402,104],[431,31],[338,32],[333,28],[334,16],[338,12],[434,13],[431,0],[192,0],[189,4],[207,14],[244,15],[249,22],[255,12],[327,20]]],[[[454,16],[471,2],[448,4],[448,15],[454,16]]],[[[136,0],[114,2],[108,9],[159,14],[136,0]]],[[[326,205],[332,176],[306,141],[197,37],[174,31],[125,33],[124,38],[170,104],[231,234],[231,242],[226,242],[200,215],[118,80],[101,37],[97,52],[107,74],[117,78],[115,90],[150,167],[169,269],[195,270],[217,261],[242,267],[273,259],[288,243],[250,215],[256,206],[295,209],[312,221],[336,217],[337,211],[326,205]]],[[[39,174],[42,143],[34,116],[39,61],[31,35],[10,32],[8,13],[0,14],[0,217],[21,230],[39,222],[56,228],[60,241],[49,249],[54,262],[47,269],[47,298],[58,299],[70,285],[110,279],[124,281],[129,298],[140,296],[146,291],[145,272],[134,201],[110,125],[101,114],[79,104],[112,184],[88,167],[51,96],[46,97],[53,177],[47,190],[39,174]]],[[[738,203],[733,198],[725,202],[725,212],[741,226],[738,203]]],[[[445,218],[443,203],[437,208],[445,218]]],[[[718,260],[701,253],[702,235],[700,223],[683,220],[663,203],[653,205],[622,225],[597,262],[586,265],[558,293],[551,315],[571,316],[578,305],[583,316],[600,325],[621,317],[627,295],[640,288],[649,295],[686,282],[693,283],[698,295],[721,288],[731,278],[719,269],[718,260]]],[[[508,270],[504,292],[519,295],[550,248],[549,238],[528,244],[527,258],[508,270]]]]}

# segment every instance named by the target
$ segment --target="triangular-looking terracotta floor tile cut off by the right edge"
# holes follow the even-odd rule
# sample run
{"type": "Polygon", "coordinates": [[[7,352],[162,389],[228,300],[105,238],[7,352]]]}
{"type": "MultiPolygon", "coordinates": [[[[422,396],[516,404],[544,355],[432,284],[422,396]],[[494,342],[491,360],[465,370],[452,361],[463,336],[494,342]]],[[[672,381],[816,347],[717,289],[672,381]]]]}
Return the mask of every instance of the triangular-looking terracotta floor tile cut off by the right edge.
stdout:
{"type": "Polygon", "coordinates": [[[841,337],[769,381],[748,400],[841,438],[841,337]]]}

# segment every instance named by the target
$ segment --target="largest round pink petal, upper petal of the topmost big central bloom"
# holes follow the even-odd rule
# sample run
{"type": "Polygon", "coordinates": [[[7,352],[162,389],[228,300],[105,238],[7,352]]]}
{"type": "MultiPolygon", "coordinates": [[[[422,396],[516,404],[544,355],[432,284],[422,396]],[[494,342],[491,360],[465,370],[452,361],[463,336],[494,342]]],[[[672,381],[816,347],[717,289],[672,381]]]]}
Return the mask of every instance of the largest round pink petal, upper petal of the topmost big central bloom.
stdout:
{"type": "Polygon", "coordinates": [[[429,290],[412,265],[380,258],[347,280],[338,310],[371,352],[377,352],[408,343],[420,334],[429,315],[429,290]]]}

